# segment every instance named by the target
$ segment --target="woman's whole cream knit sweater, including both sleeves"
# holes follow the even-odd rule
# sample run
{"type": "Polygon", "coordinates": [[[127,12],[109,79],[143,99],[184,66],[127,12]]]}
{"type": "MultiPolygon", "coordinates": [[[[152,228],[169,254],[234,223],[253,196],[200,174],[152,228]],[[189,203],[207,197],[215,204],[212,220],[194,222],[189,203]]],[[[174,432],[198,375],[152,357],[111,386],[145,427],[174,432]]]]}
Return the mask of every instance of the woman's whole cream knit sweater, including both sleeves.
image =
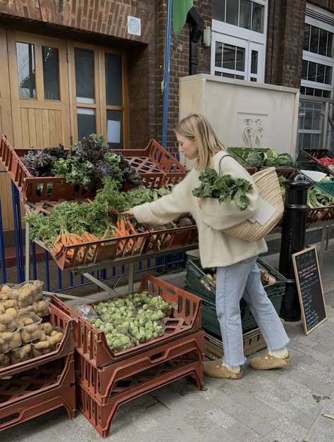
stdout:
{"type": "MultiPolygon", "coordinates": [[[[214,168],[226,152],[218,152],[214,156],[214,168]]],[[[233,178],[246,178],[252,182],[245,168],[230,156],[221,161],[222,173],[230,173],[233,178]]],[[[199,209],[197,198],[192,195],[192,189],[200,185],[199,172],[192,169],[185,179],[175,185],[170,195],[157,201],[134,207],[135,218],[140,223],[166,224],[185,212],[190,212],[197,223],[199,231],[199,255],[203,267],[230,266],[236,262],[266,252],[264,239],[248,242],[240,240],[223,232],[225,228],[236,226],[249,219],[256,209],[257,190],[253,183],[252,190],[247,194],[249,206],[240,211],[235,202],[220,204],[218,199],[203,199],[202,209],[199,209]]]]}

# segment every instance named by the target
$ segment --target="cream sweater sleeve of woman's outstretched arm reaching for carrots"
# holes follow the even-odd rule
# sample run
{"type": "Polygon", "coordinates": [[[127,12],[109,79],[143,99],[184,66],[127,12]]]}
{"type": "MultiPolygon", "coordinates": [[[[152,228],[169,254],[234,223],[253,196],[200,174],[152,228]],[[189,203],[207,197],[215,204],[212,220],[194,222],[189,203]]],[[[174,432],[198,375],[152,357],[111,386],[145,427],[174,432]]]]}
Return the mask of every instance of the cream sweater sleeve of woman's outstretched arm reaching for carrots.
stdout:
{"type": "Polygon", "coordinates": [[[167,224],[178,218],[180,214],[189,211],[191,196],[190,175],[175,185],[169,195],[165,195],[154,202],[147,202],[133,207],[135,218],[140,223],[167,224]]]}

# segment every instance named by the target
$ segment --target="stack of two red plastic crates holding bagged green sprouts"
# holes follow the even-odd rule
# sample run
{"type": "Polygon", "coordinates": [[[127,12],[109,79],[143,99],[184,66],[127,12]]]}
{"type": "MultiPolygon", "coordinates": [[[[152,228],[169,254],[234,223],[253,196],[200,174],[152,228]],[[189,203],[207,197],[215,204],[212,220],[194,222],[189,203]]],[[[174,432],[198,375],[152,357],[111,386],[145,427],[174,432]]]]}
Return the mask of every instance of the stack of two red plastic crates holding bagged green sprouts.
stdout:
{"type": "Polygon", "coordinates": [[[118,407],[185,376],[203,384],[202,301],[153,276],[144,275],[140,290],[161,295],[171,304],[160,338],[121,352],[106,343],[104,332],[63,304],[54,305],[75,318],[77,406],[102,437],[107,437],[118,407]]]}

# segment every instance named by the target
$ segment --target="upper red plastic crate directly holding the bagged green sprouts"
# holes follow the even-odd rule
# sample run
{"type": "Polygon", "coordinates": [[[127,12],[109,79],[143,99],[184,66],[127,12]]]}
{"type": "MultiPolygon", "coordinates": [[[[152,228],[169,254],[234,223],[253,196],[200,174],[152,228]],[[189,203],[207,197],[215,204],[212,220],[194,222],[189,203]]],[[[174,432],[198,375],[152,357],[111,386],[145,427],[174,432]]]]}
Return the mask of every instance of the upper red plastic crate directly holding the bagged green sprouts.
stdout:
{"type": "MultiPolygon", "coordinates": [[[[171,317],[164,319],[166,331],[163,336],[118,353],[114,353],[109,348],[103,331],[99,331],[92,324],[89,324],[89,321],[80,317],[75,310],[59,300],[56,295],[52,296],[51,303],[75,319],[75,349],[95,368],[102,368],[114,362],[125,360],[128,357],[140,355],[144,350],[156,348],[162,343],[189,335],[194,333],[194,331],[199,331],[201,328],[202,300],[199,297],[146,274],[142,276],[140,290],[147,290],[154,295],[161,295],[172,306],[171,317]]],[[[95,302],[94,304],[98,303],[95,302]]]]}

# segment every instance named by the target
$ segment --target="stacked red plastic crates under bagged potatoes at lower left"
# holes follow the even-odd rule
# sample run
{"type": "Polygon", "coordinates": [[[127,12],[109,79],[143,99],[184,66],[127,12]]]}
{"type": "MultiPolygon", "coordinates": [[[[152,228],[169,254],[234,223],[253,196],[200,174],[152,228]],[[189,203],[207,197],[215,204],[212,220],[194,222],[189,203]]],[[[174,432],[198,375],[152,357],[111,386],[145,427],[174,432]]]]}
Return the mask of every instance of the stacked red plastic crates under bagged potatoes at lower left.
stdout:
{"type": "Polygon", "coordinates": [[[56,350],[0,368],[0,431],[58,407],[75,418],[73,319],[50,309],[49,322],[63,331],[56,350]]]}

